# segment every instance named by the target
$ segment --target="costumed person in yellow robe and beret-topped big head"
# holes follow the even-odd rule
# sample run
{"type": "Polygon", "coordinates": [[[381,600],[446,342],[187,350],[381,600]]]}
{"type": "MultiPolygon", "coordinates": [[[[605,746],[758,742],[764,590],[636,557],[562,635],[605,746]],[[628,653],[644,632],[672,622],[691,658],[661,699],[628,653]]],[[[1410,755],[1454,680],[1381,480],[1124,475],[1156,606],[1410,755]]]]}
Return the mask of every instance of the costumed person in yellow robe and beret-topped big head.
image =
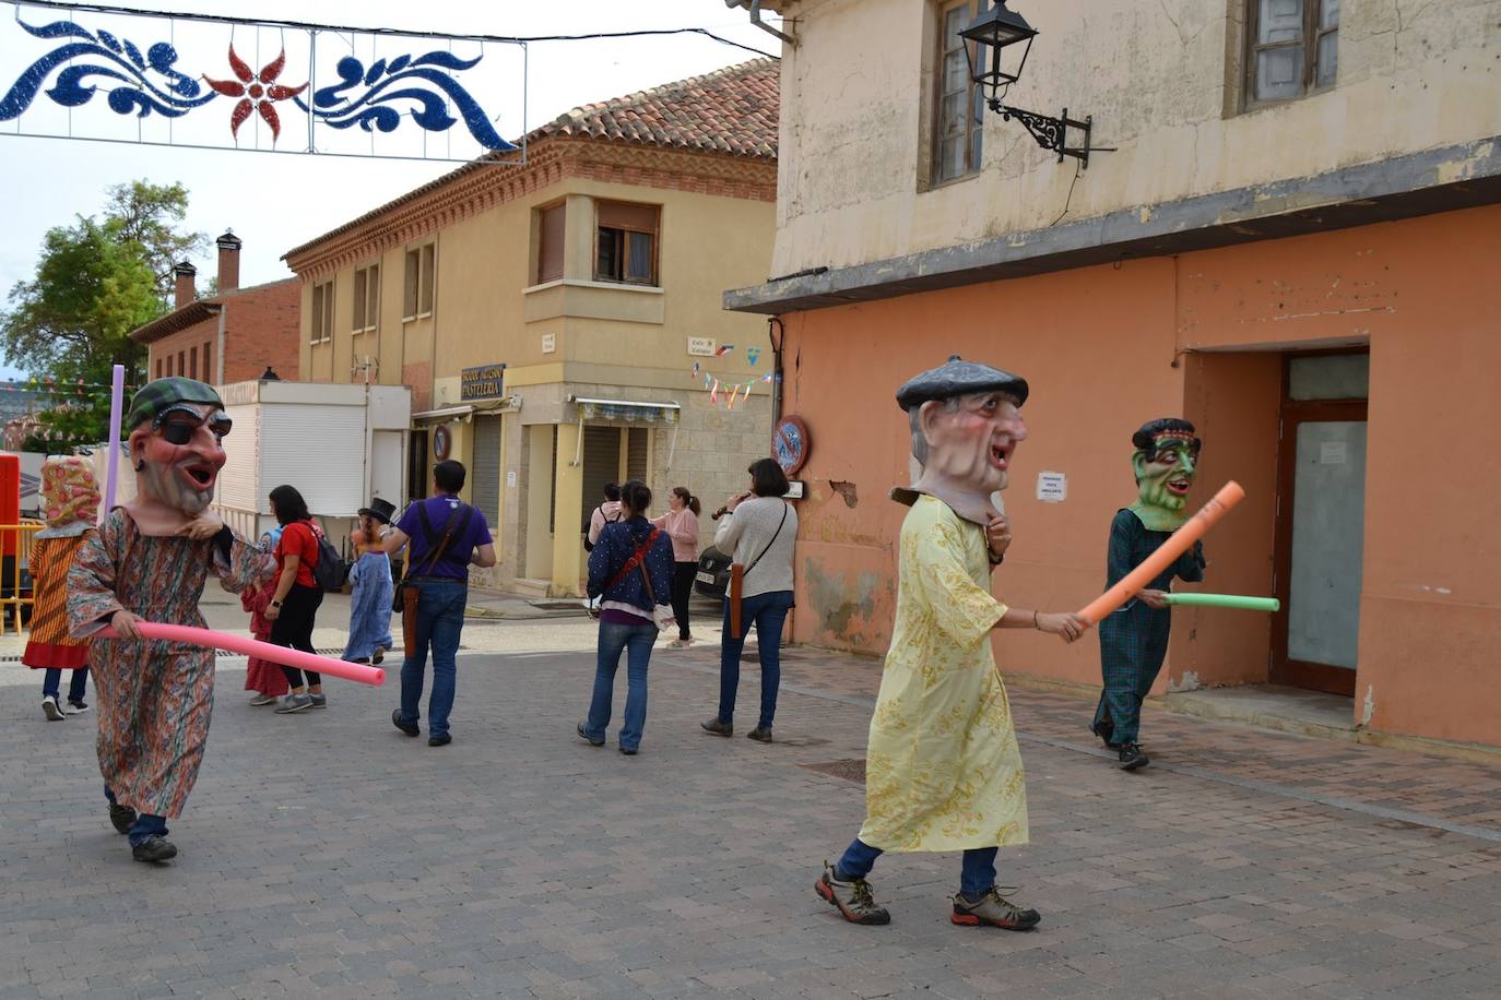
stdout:
{"type": "Polygon", "coordinates": [[[892,648],[871,718],[866,819],[859,837],[815,883],[853,924],[889,924],[866,876],[883,852],[964,852],[950,919],[962,927],[1024,931],[1042,919],[995,888],[1000,847],[1025,844],[1027,783],[991,631],[1036,628],[1073,642],[1072,613],[1009,607],[991,595],[991,573],[1012,537],[994,496],[1006,489],[1027,381],[950,358],[907,382],[913,457],[911,507],[898,546],[901,577],[892,648]]]}

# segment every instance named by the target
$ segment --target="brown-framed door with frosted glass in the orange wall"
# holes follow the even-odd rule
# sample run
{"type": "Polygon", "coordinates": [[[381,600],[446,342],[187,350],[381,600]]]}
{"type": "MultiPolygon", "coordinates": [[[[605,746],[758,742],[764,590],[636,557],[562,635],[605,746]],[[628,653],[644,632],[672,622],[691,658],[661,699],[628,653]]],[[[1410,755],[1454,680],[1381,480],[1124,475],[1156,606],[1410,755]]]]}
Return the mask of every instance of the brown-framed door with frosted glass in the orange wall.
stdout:
{"type": "Polygon", "coordinates": [[[1370,354],[1283,361],[1271,681],[1355,693],[1370,354]]]}

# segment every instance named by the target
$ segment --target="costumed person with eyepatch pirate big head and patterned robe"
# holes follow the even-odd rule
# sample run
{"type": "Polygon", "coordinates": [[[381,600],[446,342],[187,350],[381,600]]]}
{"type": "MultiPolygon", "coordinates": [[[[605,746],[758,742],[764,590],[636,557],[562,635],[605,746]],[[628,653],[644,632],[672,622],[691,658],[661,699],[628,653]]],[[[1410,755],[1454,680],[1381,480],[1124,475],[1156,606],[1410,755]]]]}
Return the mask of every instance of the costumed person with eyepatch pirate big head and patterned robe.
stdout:
{"type": "Polygon", "coordinates": [[[276,567],[212,511],[230,433],[224,402],[188,378],[149,382],[126,415],[137,493],[78,549],[68,571],[68,624],[92,637],[99,706],[99,771],[110,822],[137,861],[177,856],[167,820],[182,816],[198,778],[213,711],[213,651],[150,642],[137,622],[204,627],[209,571],[237,594],[276,567]],[[107,628],[111,637],[104,637],[107,628]]]}

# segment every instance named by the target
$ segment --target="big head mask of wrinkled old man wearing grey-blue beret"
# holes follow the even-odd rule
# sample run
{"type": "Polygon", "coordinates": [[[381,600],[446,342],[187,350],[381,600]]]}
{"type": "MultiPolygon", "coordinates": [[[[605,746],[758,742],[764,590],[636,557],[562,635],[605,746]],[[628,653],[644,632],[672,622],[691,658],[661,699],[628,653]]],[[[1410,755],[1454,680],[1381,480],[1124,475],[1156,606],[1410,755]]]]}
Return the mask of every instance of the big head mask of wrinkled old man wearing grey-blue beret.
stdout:
{"type": "Polygon", "coordinates": [[[998,513],[991,495],[1006,489],[1012,453],[1027,438],[1019,412],[1027,379],[955,355],[910,379],[896,402],[908,414],[922,475],[893,496],[911,502],[928,493],[965,520],[989,523],[998,513]]]}

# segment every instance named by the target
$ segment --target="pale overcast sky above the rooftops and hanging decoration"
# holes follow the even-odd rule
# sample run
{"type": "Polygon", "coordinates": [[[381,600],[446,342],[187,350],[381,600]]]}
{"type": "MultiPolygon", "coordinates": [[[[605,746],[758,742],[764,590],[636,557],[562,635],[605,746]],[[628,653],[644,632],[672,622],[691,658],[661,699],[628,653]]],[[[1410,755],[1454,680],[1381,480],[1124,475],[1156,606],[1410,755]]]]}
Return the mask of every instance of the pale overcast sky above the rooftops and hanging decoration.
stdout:
{"type": "MultiPolygon", "coordinates": [[[[140,9],[170,9],[174,12],[245,16],[252,9],[245,3],[215,0],[128,0],[140,9]]],[[[54,10],[21,4],[21,18],[29,24],[59,19],[54,10]]],[[[635,31],[642,28],[705,27],[743,45],[764,52],[776,52],[778,40],[749,24],[746,10],[726,9],[723,0],[654,0],[624,3],[623,0],[572,0],[572,3],[531,4],[507,0],[479,3],[474,0],[426,0],[396,3],[393,0],[261,0],[254,6],[258,18],[285,18],[344,27],[389,27],[399,30],[450,31],[456,34],[584,34],[593,31],[635,31]]],[[[146,43],[176,31],[179,64],[185,72],[197,72],[210,63],[221,78],[228,78],[224,42],[230,28],[174,27],[171,21],[137,19],[122,22],[99,15],[80,13],[78,24],[108,30],[132,28],[146,43]],[[191,28],[191,30],[189,30],[191,28]],[[192,31],[198,31],[194,34],[192,31]],[[212,49],[210,49],[212,46],[212,49]],[[209,49],[209,51],[204,51],[209,49]]],[[[254,37],[237,28],[237,48],[249,49],[254,37]]],[[[327,37],[320,34],[320,39],[327,37]]],[[[264,42],[264,34],[261,36],[264,42]]],[[[291,52],[284,84],[297,84],[306,72],[293,79],[296,43],[284,42],[291,52]]],[[[354,42],[359,45],[359,42],[354,42]]],[[[402,42],[392,42],[402,45],[402,42]]],[[[35,58],[50,51],[48,43],[32,39],[17,25],[12,10],[0,6],[0,94],[11,88],[17,75],[35,58]]],[[[423,42],[405,43],[407,51],[429,48],[423,42]]],[[[264,63],[272,54],[260,52],[264,63]]],[[[321,51],[321,49],[320,49],[321,51]]],[[[246,61],[255,61],[242,51],[246,61]]],[[[521,60],[512,46],[486,46],[485,66],[491,76],[477,79],[476,97],[491,114],[500,112],[495,127],[506,138],[521,133],[522,85],[521,60]]],[[[752,52],[720,45],[698,34],[662,37],[597,39],[581,42],[533,42],[527,46],[525,126],[536,127],[558,114],[594,100],[644,90],[657,84],[711,72],[720,66],[755,58],[752,52]]],[[[366,63],[372,60],[366,58],[366,63]]],[[[257,66],[260,69],[260,66],[257,66]]],[[[56,81],[56,73],[53,76],[56,81]]],[[[51,82],[48,85],[51,85],[51,82]]],[[[36,114],[23,115],[29,130],[41,130],[45,123],[45,97],[39,96],[36,114]]],[[[228,100],[215,100],[213,108],[192,112],[189,118],[215,118],[215,108],[227,117],[228,100]],[[222,108],[219,108],[222,105],[222,108]]],[[[122,121],[102,106],[102,96],[75,109],[74,121],[95,115],[101,123],[122,121]]],[[[293,111],[297,118],[300,112],[293,111]]],[[[56,120],[56,118],[54,118],[56,120]]],[[[251,120],[255,124],[255,118],[251,120]]],[[[242,127],[245,141],[251,124],[242,127]]],[[[245,241],[240,253],[240,283],[254,285],[290,276],[281,255],[356,216],[389,201],[458,163],[402,162],[357,157],[324,157],[287,153],[257,153],[242,150],[197,150],[135,145],[120,142],[90,142],[6,135],[15,123],[0,123],[0,154],[5,156],[3,216],[0,226],[0,291],[9,292],[15,282],[35,273],[42,237],[48,228],[69,225],[78,214],[101,210],[105,189],[134,178],[153,183],[182,181],[191,195],[188,225],[209,237],[234,229],[245,241]]],[[[219,130],[227,130],[219,124],[219,130]]],[[[260,126],[264,135],[264,124],[260,126]]],[[[410,129],[410,121],[402,129],[410,129]]],[[[458,126],[462,130],[462,126],[458,126]]],[[[75,127],[77,132],[77,127],[75,127]]],[[[180,135],[180,133],[179,133],[180,135]]],[[[216,133],[218,135],[218,133],[216,133]]],[[[285,133],[284,133],[285,138],[285,133]]],[[[260,141],[260,139],[257,139],[260,141]]],[[[285,145],[285,142],[281,142],[285,145]]],[[[321,145],[321,142],[320,142],[321,145]]],[[[210,247],[212,252],[212,247],[210,247]]],[[[207,256],[198,265],[200,288],[213,274],[215,262],[207,256]]],[[[26,366],[21,366],[24,370],[26,366]]],[[[35,372],[45,375],[44,372],[35,372]]],[[[18,372],[0,366],[0,378],[18,372]]]]}

